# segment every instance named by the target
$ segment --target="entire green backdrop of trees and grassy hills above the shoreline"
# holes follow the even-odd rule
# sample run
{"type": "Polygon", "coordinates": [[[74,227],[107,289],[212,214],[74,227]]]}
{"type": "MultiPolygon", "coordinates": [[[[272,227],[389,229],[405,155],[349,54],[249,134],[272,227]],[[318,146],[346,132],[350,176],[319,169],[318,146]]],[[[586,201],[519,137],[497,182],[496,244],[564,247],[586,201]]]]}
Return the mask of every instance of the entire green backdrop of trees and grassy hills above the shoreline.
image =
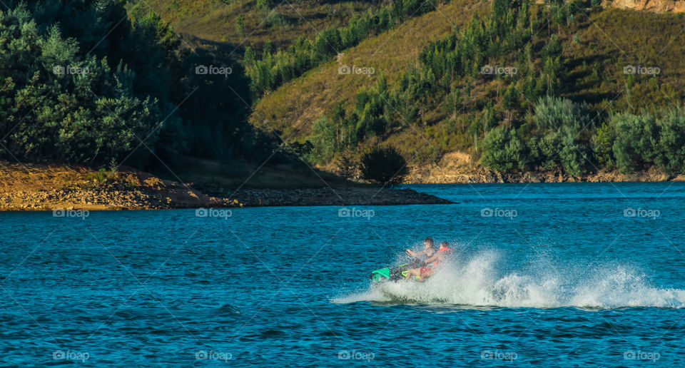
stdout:
{"type": "Polygon", "coordinates": [[[260,186],[452,156],[685,172],[684,14],[596,3],[9,1],[0,158],[260,186]]]}

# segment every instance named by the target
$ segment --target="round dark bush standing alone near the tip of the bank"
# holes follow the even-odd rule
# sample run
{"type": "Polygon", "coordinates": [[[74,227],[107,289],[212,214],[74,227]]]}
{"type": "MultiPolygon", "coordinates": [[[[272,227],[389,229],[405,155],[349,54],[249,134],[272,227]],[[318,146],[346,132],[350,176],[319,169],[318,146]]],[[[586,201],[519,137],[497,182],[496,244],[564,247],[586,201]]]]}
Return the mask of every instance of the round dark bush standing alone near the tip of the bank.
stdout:
{"type": "Polygon", "coordinates": [[[394,147],[375,147],[362,155],[362,176],[383,185],[395,185],[409,173],[407,161],[394,147]]]}

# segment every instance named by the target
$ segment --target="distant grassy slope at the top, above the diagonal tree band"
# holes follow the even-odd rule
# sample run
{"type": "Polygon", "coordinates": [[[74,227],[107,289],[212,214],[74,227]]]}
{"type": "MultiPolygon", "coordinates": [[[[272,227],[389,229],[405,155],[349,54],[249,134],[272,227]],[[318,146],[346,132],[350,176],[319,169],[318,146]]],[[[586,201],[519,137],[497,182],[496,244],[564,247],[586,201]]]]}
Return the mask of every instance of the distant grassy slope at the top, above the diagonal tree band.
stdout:
{"type": "Polygon", "coordinates": [[[367,1],[314,0],[273,1],[262,7],[256,0],[159,0],[135,5],[138,11],[152,9],[193,46],[231,50],[240,46],[239,53],[246,46],[261,50],[267,41],[285,48],[299,36],[313,39],[319,31],[347,24],[353,15],[377,7],[367,1]],[[242,31],[236,26],[238,16],[243,16],[242,31]]]}

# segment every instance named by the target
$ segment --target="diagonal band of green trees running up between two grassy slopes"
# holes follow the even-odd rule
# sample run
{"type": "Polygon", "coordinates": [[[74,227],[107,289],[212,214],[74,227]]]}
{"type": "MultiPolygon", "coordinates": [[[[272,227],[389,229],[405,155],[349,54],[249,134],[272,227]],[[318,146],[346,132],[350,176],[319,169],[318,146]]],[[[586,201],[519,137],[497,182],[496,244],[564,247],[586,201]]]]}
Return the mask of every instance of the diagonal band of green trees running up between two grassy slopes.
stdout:
{"type": "Polygon", "coordinates": [[[265,44],[261,53],[247,47],[243,64],[251,87],[258,96],[278,88],[319,63],[330,61],[338,52],[392,29],[409,17],[435,10],[436,6],[435,0],[394,0],[378,11],[369,9],[353,17],[347,26],[321,31],[314,41],[300,37],[286,50],[275,51],[270,43],[265,44]]]}

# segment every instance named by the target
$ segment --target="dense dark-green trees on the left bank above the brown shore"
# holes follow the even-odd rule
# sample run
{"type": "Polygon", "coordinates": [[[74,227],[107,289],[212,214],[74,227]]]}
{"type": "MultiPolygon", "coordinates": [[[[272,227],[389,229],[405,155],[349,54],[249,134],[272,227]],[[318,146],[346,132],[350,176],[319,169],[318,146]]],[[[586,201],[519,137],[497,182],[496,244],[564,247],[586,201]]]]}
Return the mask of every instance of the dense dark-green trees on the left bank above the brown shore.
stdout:
{"type": "Polygon", "coordinates": [[[1,157],[91,165],[128,157],[144,166],[153,162],[150,150],[166,160],[258,158],[273,149],[245,123],[250,93],[240,66],[225,76],[196,73],[223,63],[189,52],[158,16],[128,20],[116,0],[7,4],[1,157]]]}

